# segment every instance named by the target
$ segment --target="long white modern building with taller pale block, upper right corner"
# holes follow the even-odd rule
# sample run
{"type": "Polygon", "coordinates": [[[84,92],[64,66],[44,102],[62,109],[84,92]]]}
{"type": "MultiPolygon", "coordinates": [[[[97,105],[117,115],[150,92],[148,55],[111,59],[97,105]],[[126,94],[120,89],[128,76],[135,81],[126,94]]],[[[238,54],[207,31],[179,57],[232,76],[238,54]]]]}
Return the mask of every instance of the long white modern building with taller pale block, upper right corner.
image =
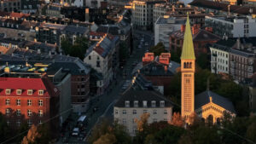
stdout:
{"type": "Polygon", "coordinates": [[[220,37],[256,37],[256,19],[251,16],[206,16],[205,24],[220,37]]]}

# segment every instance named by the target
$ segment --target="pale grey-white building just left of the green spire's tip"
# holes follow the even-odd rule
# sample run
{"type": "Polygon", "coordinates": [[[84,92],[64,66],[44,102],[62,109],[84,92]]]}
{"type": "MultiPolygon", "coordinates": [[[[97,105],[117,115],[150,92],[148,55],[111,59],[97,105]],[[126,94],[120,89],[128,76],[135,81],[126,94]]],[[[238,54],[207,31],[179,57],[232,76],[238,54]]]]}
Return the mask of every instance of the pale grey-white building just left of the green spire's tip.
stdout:
{"type": "Polygon", "coordinates": [[[181,26],[185,24],[185,20],[184,18],[176,19],[168,15],[159,17],[154,23],[154,45],[161,42],[166,48],[169,48],[170,33],[180,30],[181,26]]]}

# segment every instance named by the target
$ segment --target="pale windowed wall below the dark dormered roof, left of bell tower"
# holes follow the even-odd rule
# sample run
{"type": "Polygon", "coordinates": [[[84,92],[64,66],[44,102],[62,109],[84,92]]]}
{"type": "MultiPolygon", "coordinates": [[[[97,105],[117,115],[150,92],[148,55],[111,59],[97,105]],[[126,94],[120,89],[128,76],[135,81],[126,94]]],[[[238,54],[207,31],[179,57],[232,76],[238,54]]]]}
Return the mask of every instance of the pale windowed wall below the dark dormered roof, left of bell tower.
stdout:
{"type": "Polygon", "coordinates": [[[137,130],[137,123],[135,119],[140,119],[143,115],[143,111],[147,110],[150,114],[148,118],[148,124],[160,121],[172,120],[172,107],[114,107],[113,108],[113,118],[117,120],[119,124],[124,124],[129,131],[129,134],[134,136],[137,130]],[[126,111],[126,114],[123,114],[123,110],[126,111]],[[133,114],[133,110],[137,111],[137,114],[133,114]],[[157,114],[154,114],[154,110],[157,111],[157,114]],[[167,114],[164,114],[166,110],[167,114]]]}

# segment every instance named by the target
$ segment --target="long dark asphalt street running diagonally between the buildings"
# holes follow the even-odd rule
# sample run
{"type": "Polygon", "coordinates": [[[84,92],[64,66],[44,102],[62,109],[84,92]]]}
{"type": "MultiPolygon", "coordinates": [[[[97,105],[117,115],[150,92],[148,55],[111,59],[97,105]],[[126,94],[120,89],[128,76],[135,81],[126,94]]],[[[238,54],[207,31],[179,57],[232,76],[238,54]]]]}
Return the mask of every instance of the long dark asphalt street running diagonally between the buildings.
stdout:
{"type": "MultiPolygon", "coordinates": [[[[123,72],[120,72],[120,74],[117,77],[117,84],[114,82],[110,85],[109,91],[102,95],[99,98],[96,98],[96,101],[91,103],[91,107],[89,108],[89,111],[85,113],[85,115],[88,117],[88,125],[86,134],[90,134],[92,128],[101,121],[102,118],[108,118],[113,121],[113,106],[116,101],[119,100],[119,93],[120,89],[122,88],[123,84],[125,83],[126,79],[131,79],[132,75],[132,69],[134,66],[132,66],[134,61],[140,62],[143,59],[143,55],[145,51],[147,51],[148,48],[150,48],[151,45],[154,45],[154,39],[152,39],[153,34],[148,32],[134,32],[135,37],[144,38],[144,43],[148,43],[148,46],[145,46],[143,43],[142,49],[137,49],[137,44],[140,43],[139,40],[134,40],[134,49],[130,56],[130,58],[126,61],[123,72],[127,73],[126,77],[123,77],[123,72]],[[98,111],[93,112],[93,108],[98,107],[98,111]]],[[[83,113],[84,114],[84,113],[83,113]]],[[[83,141],[79,141],[77,138],[70,137],[68,144],[84,144],[86,143],[86,139],[90,135],[86,135],[84,137],[83,141]]],[[[57,142],[57,144],[61,144],[62,139],[57,142]]]]}

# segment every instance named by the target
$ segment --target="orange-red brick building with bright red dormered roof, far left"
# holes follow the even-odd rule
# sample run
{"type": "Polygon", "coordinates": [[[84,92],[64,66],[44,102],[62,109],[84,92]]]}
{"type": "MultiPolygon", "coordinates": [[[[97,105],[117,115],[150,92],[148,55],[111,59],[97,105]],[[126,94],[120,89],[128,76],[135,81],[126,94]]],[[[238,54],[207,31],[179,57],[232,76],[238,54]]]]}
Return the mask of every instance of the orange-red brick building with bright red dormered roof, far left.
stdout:
{"type": "MultiPolygon", "coordinates": [[[[0,89],[0,112],[11,128],[43,124],[58,113],[60,92],[47,76],[0,78],[0,89]]],[[[53,130],[58,130],[58,119],[50,121],[53,130]]]]}

